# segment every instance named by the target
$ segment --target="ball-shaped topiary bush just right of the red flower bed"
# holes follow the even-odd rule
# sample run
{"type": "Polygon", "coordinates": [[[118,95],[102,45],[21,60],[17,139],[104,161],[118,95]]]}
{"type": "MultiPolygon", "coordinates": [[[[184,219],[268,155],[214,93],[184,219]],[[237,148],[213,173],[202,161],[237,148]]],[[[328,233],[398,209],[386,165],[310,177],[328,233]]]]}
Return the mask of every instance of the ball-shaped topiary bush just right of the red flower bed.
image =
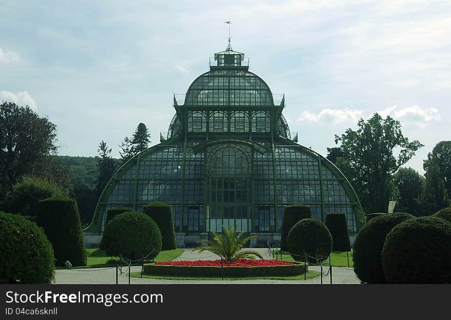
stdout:
{"type": "MultiPolygon", "coordinates": [[[[332,235],[321,221],[307,218],[291,228],[286,244],[296,261],[304,261],[304,252],[313,257],[326,257],[332,252],[332,235]]],[[[309,261],[315,263],[317,259],[309,258],[309,261]]]]}

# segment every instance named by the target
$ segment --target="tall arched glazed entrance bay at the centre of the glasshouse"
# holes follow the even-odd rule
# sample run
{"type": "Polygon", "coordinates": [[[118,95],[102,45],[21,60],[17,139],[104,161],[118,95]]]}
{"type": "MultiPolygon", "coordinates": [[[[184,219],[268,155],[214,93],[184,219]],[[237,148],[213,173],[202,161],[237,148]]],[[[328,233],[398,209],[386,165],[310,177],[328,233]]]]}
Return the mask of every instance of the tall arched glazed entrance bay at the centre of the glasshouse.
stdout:
{"type": "Polygon", "coordinates": [[[221,145],[208,149],[207,229],[222,232],[223,225],[250,231],[250,148],[221,145]]]}

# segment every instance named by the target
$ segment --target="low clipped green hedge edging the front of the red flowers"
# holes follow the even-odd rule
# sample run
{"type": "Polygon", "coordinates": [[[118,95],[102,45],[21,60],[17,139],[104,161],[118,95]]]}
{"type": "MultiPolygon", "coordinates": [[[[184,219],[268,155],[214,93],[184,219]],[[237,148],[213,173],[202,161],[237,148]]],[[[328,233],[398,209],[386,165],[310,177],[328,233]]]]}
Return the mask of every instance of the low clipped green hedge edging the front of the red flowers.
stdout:
{"type": "MultiPolygon", "coordinates": [[[[309,264],[294,263],[283,266],[261,267],[224,267],[224,277],[227,276],[289,276],[304,274],[309,270],[309,264]]],[[[171,276],[221,276],[221,267],[196,267],[196,266],[165,266],[144,265],[144,273],[149,275],[171,276]]]]}

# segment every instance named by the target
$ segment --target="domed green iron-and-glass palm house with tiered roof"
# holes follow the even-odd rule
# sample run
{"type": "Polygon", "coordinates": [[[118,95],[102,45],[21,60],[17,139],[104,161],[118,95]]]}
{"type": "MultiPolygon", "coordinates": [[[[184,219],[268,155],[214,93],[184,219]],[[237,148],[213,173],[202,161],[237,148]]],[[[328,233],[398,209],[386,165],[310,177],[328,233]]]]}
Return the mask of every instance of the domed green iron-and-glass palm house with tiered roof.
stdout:
{"type": "Polygon", "coordinates": [[[356,193],[331,162],[292,137],[284,106],[284,95],[249,71],[243,53],[230,44],[215,53],[210,70],[174,95],[175,115],[160,144],[114,174],[85,230],[87,243],[98,243],[110,208],[139,211],[153,201],[172,206],[179,247],[222,225],[258,234],[252,246],[277,241],[283,209],[295,203],[310,205],[322,221],[345,213],[355,234],[363,221],[356,193]]]}

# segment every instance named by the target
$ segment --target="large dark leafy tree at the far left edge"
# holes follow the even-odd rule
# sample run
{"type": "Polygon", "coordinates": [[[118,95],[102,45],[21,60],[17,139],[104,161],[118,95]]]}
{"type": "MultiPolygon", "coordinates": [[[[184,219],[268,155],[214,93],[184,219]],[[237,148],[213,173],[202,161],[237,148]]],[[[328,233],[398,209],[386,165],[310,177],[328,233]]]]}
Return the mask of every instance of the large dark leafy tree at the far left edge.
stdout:
{"type": "Polygon", "coordinates": [[[56,126],[30,107],[0,105],[0,185],[10,189],[56,153],[56,126]]]}

